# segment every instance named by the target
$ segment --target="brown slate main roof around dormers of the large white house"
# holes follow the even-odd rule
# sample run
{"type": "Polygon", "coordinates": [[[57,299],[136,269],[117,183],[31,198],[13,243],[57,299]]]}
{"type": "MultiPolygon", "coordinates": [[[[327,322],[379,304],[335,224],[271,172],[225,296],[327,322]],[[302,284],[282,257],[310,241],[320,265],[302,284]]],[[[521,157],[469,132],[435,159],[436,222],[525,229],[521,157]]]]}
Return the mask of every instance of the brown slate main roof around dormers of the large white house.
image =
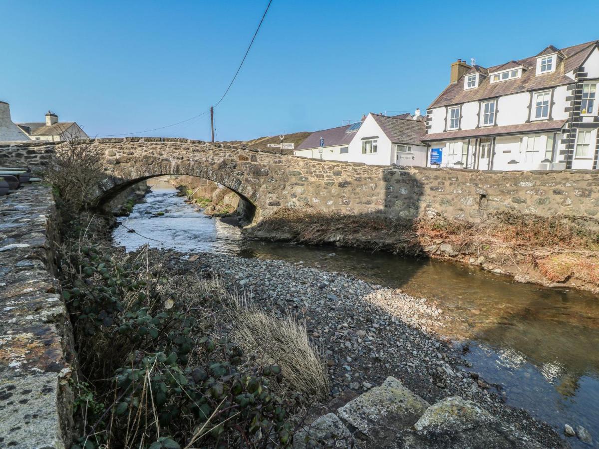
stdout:
{"type": "MultiPolygon", "coordinates": [[[[486,69],[488,73],[492,73],[500,71],[501,69],[520,65],[528,67],[528,69],[525,69],[522,72],[520,78],[500,81],[493,84],[491,84],[489,78],[485,78],[480,80],[479,87],[476,89],[464,90],[464,81],[462,77],[457,83],[449,84],[449,86],[441,92],[441,95],[432,102],[429,108],[438,108],[452,104],[461,104],[468,101],[494,98],[501,95],[510,95],[512,93],[527,92],[528,90],[546,89],[549,87],[561,86],[563,84],[572,84],[574,83],[574,80],[564,74],[582,65],[586,57],[588,57],[594,48],[597,48],[598,44],[599,41],[591,41],[584,44],[573,45],[572,47],[562,48],[561,50],[552,46],[547,47],[545,50],[541,51],[540,54],[547,54],[547,49],[553,51],[553,48],[555,48],[557,53],[561,52],[564,55],[564,59],[558,63],[554,72],[538,77],[536,76],[537,56],[526,57],[517,61],[509,61],[486,69]]],[[[473,71],[470,70],[468,73],[472,72],[473,71]]],[[[480,72],[484,73],[482,68],[480,72]]]]}

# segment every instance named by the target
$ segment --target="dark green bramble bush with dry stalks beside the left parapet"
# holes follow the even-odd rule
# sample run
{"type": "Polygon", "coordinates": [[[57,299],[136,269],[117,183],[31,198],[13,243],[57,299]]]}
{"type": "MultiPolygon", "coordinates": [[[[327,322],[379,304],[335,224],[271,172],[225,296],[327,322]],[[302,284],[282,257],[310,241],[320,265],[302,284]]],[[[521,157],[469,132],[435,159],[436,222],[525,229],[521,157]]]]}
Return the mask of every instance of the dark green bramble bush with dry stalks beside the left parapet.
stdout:
{"type": "Polygon", "coordinates": [[[288,409],[301,398],[273,392],[279,365],[257,365],[211,332],[207,317],[222,298],[209,284],[186,298],[147,253],[85,239],[64,245],[61,271],[87,378],[75,388],[82,436],[73,448],[291,443],[288,409]]]}

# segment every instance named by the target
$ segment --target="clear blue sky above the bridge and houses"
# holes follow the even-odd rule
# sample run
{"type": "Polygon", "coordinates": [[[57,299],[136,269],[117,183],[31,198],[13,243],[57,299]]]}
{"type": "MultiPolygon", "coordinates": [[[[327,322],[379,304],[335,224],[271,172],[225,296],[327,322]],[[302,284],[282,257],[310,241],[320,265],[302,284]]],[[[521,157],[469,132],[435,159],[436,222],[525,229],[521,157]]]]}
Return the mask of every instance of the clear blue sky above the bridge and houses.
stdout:
{"type": "MultiPolygon", "coordinates": [[[[0,0],[0,100],[15,122],[47,110],[90,136],[144,131],[216,103],[267,0],[0,0]]],[[[483,66],[599,38],[599,2],[273,0],[217,139],[423,111],[457,58],[483,66]]],[[[145,135],[207,139],[208,116],[145,135]]]]}

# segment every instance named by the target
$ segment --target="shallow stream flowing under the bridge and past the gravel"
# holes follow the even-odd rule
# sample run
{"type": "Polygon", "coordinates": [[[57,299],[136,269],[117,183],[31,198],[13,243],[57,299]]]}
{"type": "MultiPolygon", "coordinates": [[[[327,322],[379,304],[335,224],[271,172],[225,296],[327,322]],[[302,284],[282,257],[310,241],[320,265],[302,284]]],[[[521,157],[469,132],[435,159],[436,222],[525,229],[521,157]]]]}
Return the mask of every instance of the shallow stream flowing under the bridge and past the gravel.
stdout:
{"type": "MultiPolygon", "coordinates": [[[[180,251],[301,261],[428,298],[450,316],[439,331],[471,341],[465,358],[486,380],[502,384],[509,404],[528,409],[562,431],[585,426],[599,438],[599,301],[592,293],[515,283],[470,266],[402,259],[334,247],[252,241],[240,229],[184,204],[168,184],[122,220],[117,244],[148,243],[180,251]],[[164,211],[164,216],[153,214],[164,211]]],[[[570,439],[574,445],[578,441],[570,439]]]]}

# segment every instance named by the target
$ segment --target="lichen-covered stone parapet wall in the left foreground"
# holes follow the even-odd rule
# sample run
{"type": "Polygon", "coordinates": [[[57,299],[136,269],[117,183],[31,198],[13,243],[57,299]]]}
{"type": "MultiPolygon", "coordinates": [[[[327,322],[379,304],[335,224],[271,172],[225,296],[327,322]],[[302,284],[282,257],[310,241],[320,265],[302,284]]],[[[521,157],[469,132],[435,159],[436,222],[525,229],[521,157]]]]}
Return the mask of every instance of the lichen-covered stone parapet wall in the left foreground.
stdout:
{"type": "Polygon", "coordinates": [[[0,198],[0,447],[71,444],[75,357],[55,278],[52,189],[0,198]]]}

